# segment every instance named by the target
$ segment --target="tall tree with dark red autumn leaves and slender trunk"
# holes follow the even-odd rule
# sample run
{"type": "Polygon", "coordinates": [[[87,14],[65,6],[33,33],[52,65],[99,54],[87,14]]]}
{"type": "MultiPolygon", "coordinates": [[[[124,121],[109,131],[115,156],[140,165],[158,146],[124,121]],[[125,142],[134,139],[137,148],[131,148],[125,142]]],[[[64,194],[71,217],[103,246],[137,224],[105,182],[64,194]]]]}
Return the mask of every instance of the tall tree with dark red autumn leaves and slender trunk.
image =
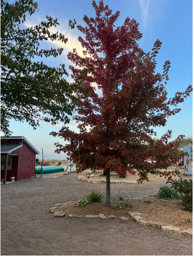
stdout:
{"type": "Polygon", "coordinates": [[[165,126],[167,117],[181,111],[176,106],[189,96],[192,86],[167,99],[164,84],[168,81],[170,61],[165,62],[162,74],[155,72],[155,57],[162,43],[156,40],[152,51],[145,53],[137,44],[142,34],[136,20],[127,17],[116,28],[119,11],[111,14],[103,1],[99,5],[93,1],[92,5],[96,17],[85,15],[87,26],[77,26],[85,34],[85,39],[78,38],[84,57],[76,49],[68,53],[68,59],[75,64],[70,66],[72,77],[82,81],[82,89],[76,92],[80,101],[74,117],[79,133],[64,126],[51,134],[69,142],[65,146],[55,143],[55,152],[67,153],[76,163],[77,173],[86,168],[106,171],[109,207],[110,170],[118,175],[134,174],[129,164],[135,164],[141,183],[148,180],[148,173],[169,175],[161,169],[178,161],[180,156],[175,151],[184,135],[168,142],[168,131],[154,142],[154,127],[165,126]],[[146,162],[150,156],[155,165],[146,162]]]}

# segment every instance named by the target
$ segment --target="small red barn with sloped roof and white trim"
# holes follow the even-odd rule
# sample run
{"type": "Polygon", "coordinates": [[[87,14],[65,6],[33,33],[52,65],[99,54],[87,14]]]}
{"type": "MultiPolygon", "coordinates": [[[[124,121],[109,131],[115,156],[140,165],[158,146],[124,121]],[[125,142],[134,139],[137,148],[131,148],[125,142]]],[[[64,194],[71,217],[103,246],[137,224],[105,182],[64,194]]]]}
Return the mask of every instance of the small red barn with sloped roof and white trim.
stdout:
{"type": "Polygon", "coordinates": [[[39,151],[24,136],[0,137],[0,178],[3,184],[35,175],[35,160],[39,151]]]}

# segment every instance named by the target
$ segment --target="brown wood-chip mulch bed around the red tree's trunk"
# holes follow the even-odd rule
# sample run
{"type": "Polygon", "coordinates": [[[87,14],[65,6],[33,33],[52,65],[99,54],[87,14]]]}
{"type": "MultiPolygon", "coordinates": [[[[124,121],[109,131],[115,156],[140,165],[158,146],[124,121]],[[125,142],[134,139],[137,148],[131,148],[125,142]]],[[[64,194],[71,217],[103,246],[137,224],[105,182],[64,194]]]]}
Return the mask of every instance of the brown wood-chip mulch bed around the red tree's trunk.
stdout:
{"type": "MultiPolygon", "coordinates": [[[[129,201],[133,208],[129,208],[129,211],[140,212],[143,214],[143,218],[147,221],[153,220],[166,225],[173,225],[183,229],[193,228],[193,212],[185,211],[184,207],[180,205],[178,200],[165,200],[157,199],[155,197],[146,197],[138,200],[129,201]],[[151,200],[152,203],[145,205],[144,200],[151,200]],[[189,220],[191,223],[189,223],[189,220]]],[[[67,215],[98,215],[104,214],[105,216],[115,215],[116,217],[124,216],[128,217],[126,209],[117,208],[114,201],[111,201],[111,207],[108,208],[103,203],[92,203],[82,208],[78,203],[69,203],[67,205],[61,205],[58,211],[63,211],[67,215]]]]}

